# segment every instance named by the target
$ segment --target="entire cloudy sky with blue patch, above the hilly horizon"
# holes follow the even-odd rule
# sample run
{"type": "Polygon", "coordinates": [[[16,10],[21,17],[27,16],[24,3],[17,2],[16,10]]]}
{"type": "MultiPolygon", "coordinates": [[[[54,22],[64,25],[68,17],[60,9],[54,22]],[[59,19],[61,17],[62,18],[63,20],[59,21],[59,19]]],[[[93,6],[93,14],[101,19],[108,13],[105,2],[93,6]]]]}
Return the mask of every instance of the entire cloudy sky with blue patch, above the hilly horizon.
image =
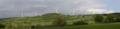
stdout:
{"type": "Polygon", "coordinates": [[[43,15],[46,13],[103,14],[120,12],[120,0],[0,0],[0,18],[43,15]],[[58,7],[56,7],[58,5],[58,7]],[[74,9],[73,9],[74,8],[74,9]]]}

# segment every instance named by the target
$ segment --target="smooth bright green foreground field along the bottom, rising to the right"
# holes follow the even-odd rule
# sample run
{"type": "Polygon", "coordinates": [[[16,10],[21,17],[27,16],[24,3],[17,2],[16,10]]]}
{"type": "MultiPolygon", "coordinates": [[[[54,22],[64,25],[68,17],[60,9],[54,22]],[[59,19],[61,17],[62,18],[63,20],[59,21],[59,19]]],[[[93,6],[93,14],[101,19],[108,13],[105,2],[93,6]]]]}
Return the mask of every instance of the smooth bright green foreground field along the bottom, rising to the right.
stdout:
{"type": "MultiPolygon", "coordinates": [[[[0,28],[0,29],[30,29],[30,28],[0,28]]],[[[44,28],[31,28],[31,29],[120,29],[120,23],[78,25],[78,26],[65,26],[65,27],[44,27],[44,28]]]]}

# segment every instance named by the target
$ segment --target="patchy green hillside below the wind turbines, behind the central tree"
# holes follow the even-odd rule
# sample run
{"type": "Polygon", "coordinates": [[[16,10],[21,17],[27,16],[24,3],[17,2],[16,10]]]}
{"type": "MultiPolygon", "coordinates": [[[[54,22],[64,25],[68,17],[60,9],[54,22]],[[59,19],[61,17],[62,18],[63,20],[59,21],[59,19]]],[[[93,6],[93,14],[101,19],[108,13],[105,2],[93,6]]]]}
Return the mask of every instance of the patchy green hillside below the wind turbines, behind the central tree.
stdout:
{"type": "Polygon", "coordinates": [[[59,13],[47,13],[43,14],[42,16],[33,16],[33,17],[17,17],[17,18],[10,18],[1,21],[1,23],[8,25],[9,23],[12,23],[13,26],[23,24],[24,26],[29,25],[36,25],[36,24],[41,24],[42,26],[44,25],[51,25],[52,21],[56,19],[57,17],[61,17],[62,19],[67,20],[67,24],[72,24],[75,21],[79,20],[90,20],[87,21],[89,23],[94,23],[93,18],[94,15],[64,15],[64,14],[59,14],[59,13]]]}

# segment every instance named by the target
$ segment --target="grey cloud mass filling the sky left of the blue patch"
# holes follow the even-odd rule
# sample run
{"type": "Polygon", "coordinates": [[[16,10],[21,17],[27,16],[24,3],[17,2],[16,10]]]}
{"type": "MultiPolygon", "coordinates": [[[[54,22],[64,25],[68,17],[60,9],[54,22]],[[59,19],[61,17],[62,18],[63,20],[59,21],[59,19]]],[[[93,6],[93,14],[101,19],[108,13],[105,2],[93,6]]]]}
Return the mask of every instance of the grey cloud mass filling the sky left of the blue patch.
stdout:
{"type": "Polygon", "coordinates": [[[34,16],[35,10],[37,10],[38,15],[55,13],[56,5],[58,5],[58,12],[62,14],[69,14],[73,7],[75,14],[84,14],[86,8],[104,6],[97,0],[1,0],[0,11],[3,13],[0,12],[0,18],[21,17],[22,10],[24,10],[24,16],[34,16]]]}

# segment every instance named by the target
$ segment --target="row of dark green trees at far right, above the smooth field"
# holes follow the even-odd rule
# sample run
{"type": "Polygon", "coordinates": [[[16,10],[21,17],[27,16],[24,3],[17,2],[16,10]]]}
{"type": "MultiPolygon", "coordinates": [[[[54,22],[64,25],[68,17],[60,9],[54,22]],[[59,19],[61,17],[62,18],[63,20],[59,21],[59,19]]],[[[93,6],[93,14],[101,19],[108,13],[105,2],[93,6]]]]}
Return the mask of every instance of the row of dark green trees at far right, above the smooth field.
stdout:
{"type": "Polygon", "coordinates": [[[120,18],[115,17],[112,14],[108,14],[106,17],[103,17],[102,15],[96,15],[95,22],[96,23],[100,23],[100,22],[104,22],[104,23],[120,22],[120,18]]]}

